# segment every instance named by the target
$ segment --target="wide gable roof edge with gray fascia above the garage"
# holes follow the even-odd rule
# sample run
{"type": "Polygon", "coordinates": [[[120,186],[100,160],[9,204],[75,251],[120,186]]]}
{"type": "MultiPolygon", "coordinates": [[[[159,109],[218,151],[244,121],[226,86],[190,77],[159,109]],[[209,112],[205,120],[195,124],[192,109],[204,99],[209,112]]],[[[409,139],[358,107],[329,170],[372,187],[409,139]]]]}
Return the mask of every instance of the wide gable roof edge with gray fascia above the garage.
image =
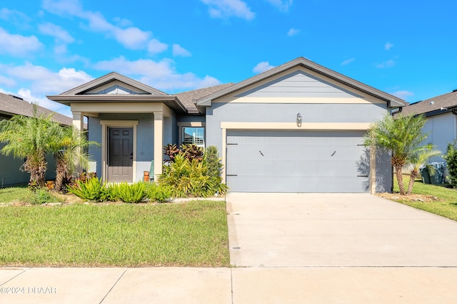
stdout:
{"type": "Polygon", "coordinates": [[[306,68],[308,70],[311,70],[315,73],[318,73],[320,75],[323,75],[326,78],[330,78],[332,80],[337,81],[338,83],[341,83],[343,85],[347,85],[350,88],[354,88],[362,93],[366,93],[368,95],[371,95],[375,98],[378,98],[380,100],[386,101],[389,107],[403,107],[406,105],[404,100],[401,100],[400,98],[397,98],[396,96],[390,95],[388,93],[385,93],[381,90],[377,90],[376,88],[372,88],[369,85],[366,85],[364,83],[358,82],[357,80],[353,80],[352,78],[348,78],[345,75],[342,75],[340,73],[335,72],[334,70],[330,70],[328,68],[323,67],[322,65],[318,65],[317,63],[313,63],[313,61],[309,61],[308,59],[305,59],[303,57],[296,58],[293,61],[289,61],[288,63],[284,63],[283,65],[279,65],[276,68],[272,68],[271,70],[267,70],[266,72],[263,72],[261,74],[255,75],[251,78],[248,78],[246,80],[241,81],[240,83],[236,83],[235,85],[231,85],[228,88],[225,88],[223,90],[220,90],[216,93],[213,93],[209,96],[206,96],[204,98],[200,98],[197,100],[197,106],[209,106],[211,105],[211,101],[215,100],[216,98],[220,98],[224,95],[228,95],[230,93],[235,92],[236,90],[241,90],[243,88],[246,88],[249,85],[253,85],[255,83],[258,83],[262,80],[265,80],[266,78],[271,78],[274,75],[277,75],[278,73],[282,73],[286,70],[289,70],[291,68],[295,68],[297,66],[301,66],[303,68],[306,68]]]}

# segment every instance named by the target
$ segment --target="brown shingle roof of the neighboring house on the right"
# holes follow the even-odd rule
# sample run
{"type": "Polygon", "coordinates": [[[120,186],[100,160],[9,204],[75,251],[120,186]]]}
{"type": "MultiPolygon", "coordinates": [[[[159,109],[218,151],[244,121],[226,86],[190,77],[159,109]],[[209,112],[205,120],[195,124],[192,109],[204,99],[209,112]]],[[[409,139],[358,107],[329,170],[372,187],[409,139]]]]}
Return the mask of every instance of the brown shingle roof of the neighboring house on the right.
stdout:
{"type": "Polygon", "coordinates": [[[451,93],[436,96],[418,103],[413,103],[403,108],[402,115],[417,115],[433,111],[446,111],[457,107],[457,90],[451,93]],[[443,110],[441,110],[443,108],[443,110]],[[446,109],[446,110],[444,110],[446,109]]]}

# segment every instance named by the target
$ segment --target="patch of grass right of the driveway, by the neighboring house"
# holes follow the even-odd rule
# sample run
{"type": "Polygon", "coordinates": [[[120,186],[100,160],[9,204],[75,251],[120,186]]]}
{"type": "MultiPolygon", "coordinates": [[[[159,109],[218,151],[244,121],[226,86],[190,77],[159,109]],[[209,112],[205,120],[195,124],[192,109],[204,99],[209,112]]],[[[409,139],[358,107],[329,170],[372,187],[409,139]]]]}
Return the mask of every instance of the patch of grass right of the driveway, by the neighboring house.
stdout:
{"type": "MultiPolygon", "coordinates": [[[[408,187],[408,175],[403,176],[403,182],[406,185],[406,187],[408,187]]],[[[398,192],[398,184],[396,179],[394,180],[393,192],[398,192]]],[[[444,187],[444,185],[423,184],[420,179],[417,179],[414,182],[412,193],[436,196],[438,198],[438,201],[411,201],[402,198],[395,199],[395,201],[457,221],[456,189],[448,189],[444,187]]]]}

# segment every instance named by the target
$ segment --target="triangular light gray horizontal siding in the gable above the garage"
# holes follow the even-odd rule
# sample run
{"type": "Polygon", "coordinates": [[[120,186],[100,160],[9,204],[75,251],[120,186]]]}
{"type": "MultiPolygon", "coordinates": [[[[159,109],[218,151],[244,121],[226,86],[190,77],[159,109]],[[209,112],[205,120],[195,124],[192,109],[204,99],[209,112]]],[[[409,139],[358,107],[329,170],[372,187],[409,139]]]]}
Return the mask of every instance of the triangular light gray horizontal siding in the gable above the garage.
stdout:
{"type": "Polygon", "coordinates": [[[353,98],[360,97],[313,75],[297,70],[269,83],[248,90],[237,97],[315,97],[353,98]]]}

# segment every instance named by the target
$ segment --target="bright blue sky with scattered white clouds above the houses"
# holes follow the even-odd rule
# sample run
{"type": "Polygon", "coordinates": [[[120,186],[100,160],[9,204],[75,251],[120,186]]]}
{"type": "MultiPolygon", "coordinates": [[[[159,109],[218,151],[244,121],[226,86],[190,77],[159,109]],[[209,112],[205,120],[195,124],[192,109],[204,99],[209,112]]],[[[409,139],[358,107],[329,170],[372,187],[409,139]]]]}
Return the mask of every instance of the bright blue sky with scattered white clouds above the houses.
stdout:
{"type": "Polygon", "coordinates": [[[305,57],[409,103],[457,89],[456,1],[2,0],[0,92],[55,95],[116,71],[179,93],[305,57]]]}

